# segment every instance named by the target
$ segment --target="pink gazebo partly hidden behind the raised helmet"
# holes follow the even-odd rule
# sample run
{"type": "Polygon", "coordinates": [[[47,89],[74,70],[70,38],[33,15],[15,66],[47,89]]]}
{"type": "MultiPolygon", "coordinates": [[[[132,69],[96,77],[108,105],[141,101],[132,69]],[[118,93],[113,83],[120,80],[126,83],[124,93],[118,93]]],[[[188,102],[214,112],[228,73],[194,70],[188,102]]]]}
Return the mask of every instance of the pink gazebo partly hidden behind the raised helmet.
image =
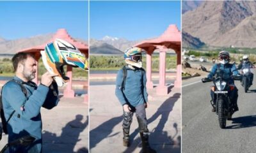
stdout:
{"type": "MultiPolygon", "coordinates": [[[[24,50],[19,50],[19,52],[29,52],[35,55],[37,68],[36,68],[36,77],[33,80],[33,82],[35,82],[36,84],[38,84],[38,61],[41,57],[40,51],[44,50],[47,43],[54,41],[56,38],[60,38],[61,40],[65,40],[65,41],[68,41],[69,43],[72,43],[72,45],[77,47],[82,52],[82,54],[84,54],[86,58],[88,58],[88,45],[71,38],[71,36],[67,33],[66,29],[58,29],[56,34],[52,36],[51,40],[43,43],[42,45],[26,48],[24,50]]],[[[64,97],[74,98],[75,92],[74,90],[72,90],[72,67],[71,66],[67,66],[67,77],[70,78],[70,81],[68,82],[67,87],[64,90],[64,97]]],[[[85,85],[87,86],[88,82],[85,82],[85,85]]],[[[88,101],[88,94],[84,95],[84,101],[88,101]]]]}

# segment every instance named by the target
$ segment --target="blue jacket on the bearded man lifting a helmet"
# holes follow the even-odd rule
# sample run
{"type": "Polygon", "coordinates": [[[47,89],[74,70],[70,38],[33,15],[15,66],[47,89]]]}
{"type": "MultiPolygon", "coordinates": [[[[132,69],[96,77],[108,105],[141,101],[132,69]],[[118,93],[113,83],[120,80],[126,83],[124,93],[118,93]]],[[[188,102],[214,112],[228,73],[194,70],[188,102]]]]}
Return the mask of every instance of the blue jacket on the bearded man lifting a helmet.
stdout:
{"type": "MultiPolygon", "coordinates": [[[[22,82],[18,77],[14,80],[22,82]]],[[[11,147],[10,152],[42,152],[42,119],[40,109],[51,109],[58,104],[58,95],[54,96],[52,89],[45,85],[35,85],[31,82],[22,83],[27,90],[28,98],[22,92],[19,84],[8,82],[3,87],[3,109],[7,120],[13,110],[15,113],[8,122],[8,142],[12,142],[22,136],[31,135],[36,138],[29,147],[11,147]]],[[[58,94],[58,86],[52,83],[58,94]]]]}

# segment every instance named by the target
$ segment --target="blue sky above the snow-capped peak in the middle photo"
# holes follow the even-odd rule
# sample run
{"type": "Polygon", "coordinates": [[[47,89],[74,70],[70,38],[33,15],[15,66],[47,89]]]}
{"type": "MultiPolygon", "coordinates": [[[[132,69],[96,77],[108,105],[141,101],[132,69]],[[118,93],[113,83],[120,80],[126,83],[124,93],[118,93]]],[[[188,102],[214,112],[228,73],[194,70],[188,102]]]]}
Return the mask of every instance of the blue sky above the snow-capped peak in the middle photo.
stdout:
{"type": "Polygon", "coordinates": [[[141,40],[180,30],[180,1],[90,1],[90,38],[141,40]]]}

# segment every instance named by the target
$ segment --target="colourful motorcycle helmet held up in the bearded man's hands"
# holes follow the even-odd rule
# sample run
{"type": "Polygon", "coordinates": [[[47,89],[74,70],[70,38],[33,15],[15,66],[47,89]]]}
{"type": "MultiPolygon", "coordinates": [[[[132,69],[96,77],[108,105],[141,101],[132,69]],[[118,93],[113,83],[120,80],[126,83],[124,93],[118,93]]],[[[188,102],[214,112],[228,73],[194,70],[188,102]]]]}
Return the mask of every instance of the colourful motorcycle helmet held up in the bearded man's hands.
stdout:
{"type": "Polygon", "coordinates": [[[79,67],[88,70],[88,62],[81,52],[67,41],[56,39],[48,43],[44,51],[40,52],[44,66],[52,74],[58,74],[54,77],[59,87],[67,84],[69,78],[65,76],[63,66],[79,67]]]}

